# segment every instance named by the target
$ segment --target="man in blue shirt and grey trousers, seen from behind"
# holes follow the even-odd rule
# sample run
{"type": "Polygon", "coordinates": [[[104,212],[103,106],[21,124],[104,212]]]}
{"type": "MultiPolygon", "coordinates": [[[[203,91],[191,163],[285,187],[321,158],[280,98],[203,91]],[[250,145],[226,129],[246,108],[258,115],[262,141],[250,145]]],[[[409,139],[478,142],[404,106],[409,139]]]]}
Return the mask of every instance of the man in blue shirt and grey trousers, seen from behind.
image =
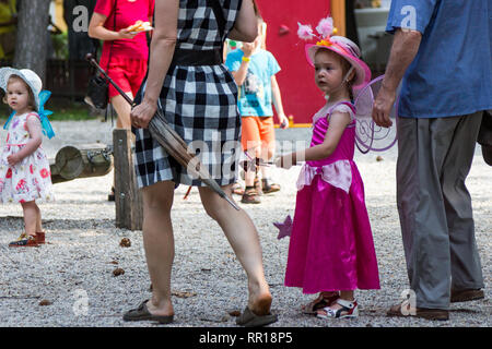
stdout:
{"type": "Polygon", "coordinates": [[[492,107],[491,11],[490,0],[391,2],[395,37],[373,119],[391,124],[402,80],[397,204],[415,306],[389,316],[448,320],[449,302],[484,297],[465,179],[492,107]]]}

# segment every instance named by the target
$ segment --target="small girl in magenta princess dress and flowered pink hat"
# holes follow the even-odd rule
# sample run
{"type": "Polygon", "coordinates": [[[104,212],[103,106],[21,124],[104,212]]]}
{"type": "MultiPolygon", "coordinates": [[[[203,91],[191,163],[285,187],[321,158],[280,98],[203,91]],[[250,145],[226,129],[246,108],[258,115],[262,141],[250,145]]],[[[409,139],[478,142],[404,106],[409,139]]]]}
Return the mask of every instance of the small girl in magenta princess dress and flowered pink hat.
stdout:
{"type": "MultiPolygon", "coordinates": [[[[364,186],[353,161],[355,107],[353,94],[371,80],[351,40],[333,34],[330,17],[316,27],[321,39],[306,45],[315,83],[327,104],[313,117],[311,147],[286,154],[276,165],[290,168],[305,160],[289,246],[285,286],[318,297],[304,306],[318,317],[356,317],[355,289],[379,289],[364,186]]],[[[335,29],[336,31],[336,29],[335,29]]],[[[301,25],[301,38],[314,36],[301,25]]]]}

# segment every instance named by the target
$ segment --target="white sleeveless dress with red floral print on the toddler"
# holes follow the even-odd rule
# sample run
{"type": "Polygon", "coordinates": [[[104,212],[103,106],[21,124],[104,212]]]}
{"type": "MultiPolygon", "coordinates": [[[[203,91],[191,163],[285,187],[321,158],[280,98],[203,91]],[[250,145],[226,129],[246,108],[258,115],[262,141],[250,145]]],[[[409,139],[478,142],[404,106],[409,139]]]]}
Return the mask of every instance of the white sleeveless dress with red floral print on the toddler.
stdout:
{"type": "Polygon", "coordinates": [[[35,112],[26,112],[15,116],[9,125],[0,158],[0,202],[2,203],[54,200],[49,161],[40,146],[15,166],[10,166],[7,160],[9,155],[22,149],[30,139],[26,130],[27,118],[39,117],[35,112]]]}

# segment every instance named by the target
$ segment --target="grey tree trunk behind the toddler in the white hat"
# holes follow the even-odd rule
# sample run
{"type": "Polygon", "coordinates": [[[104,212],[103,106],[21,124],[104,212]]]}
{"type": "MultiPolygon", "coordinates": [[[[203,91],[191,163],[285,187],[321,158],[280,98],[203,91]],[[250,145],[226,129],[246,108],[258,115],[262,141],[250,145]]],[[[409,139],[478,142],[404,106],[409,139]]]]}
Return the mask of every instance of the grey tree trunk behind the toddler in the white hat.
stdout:
{"type": "Polygon", "coordinates": [[[35,71],[45,81],[49,4],[51,0],[21,1],[14,67],[35,71]]]}

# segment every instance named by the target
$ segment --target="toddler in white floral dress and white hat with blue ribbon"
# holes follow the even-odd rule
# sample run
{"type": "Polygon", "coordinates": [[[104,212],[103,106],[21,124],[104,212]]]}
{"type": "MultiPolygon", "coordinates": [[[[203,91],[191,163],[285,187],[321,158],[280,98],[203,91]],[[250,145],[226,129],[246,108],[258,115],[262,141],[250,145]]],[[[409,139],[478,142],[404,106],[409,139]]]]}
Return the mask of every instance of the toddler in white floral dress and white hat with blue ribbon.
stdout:
{"type": "Polygon", "coordinates": [[[42,148],[43,133],[52,137],[44,110],[50,93],[42,92],[42,80],[28,69],[0,69],[0,88],[13,110],[4,129],[9,130],[0,157],[0,202],[20,203],[25,231],[9,246],[37,246],[45,243],[42,216],[36,200],[52,200],[51,173],[42,148]]]}

